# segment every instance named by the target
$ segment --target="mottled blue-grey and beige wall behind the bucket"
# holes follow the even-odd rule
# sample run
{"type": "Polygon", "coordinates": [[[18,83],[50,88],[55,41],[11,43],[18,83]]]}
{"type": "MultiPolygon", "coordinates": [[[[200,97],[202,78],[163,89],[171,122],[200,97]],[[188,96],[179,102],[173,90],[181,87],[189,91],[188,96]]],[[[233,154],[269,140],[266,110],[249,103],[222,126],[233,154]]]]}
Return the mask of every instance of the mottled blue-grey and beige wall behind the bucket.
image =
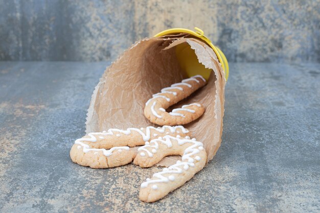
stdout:
{"type": "Polygon", "coordinates": [[[168,28],[201,28],[230,62],[320,62],[320,0],[0,0],[0,60],[114,60],[168,28]]]}

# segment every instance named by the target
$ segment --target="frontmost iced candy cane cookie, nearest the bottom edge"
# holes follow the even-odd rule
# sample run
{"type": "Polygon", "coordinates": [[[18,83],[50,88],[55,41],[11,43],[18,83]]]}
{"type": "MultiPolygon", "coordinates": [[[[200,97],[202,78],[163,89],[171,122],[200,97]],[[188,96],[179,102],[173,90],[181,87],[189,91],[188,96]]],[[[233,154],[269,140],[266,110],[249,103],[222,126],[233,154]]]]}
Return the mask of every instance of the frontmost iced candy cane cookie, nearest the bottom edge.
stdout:
{"type": "Polygon", "coordinates": [[[168,155],[182,156],[181,161],[178,160],[162,172],[153,174],[151,179],[147,178],[141,184],[139,198],[145,202],[154,202],[165,197],[190,180],[207,162],[203,144],[189,136],[182,138],[166,135],[151,140],[138,150],[133,162],[141,167],[151,167],[168,155]]]}

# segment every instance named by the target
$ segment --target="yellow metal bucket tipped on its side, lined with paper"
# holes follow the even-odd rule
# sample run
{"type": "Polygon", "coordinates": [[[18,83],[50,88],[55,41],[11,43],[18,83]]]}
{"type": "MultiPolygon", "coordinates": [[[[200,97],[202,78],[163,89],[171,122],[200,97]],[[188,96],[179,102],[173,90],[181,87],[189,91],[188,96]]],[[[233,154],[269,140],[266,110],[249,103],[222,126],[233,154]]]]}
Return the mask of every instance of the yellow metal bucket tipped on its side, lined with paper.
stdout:
{"type": "MultiPolygon", "coordinates": [[[[228,80],[229,65],[224,54],[219,48],[217,48],[217,46],[212,44],[209,38],[204,36],[204,33],[201,29],[199,28],[194,28],[194,29],[195,31],[184,29],[184,28],[172,28],[172,29],[162,31],[156,34],[154,37],[159,37],[164,35],[174,35],[179,33],[188,33],[196,38],[199,38],[205,41],[205,43],[207,43],[217,55],[218,60],[221,63],[221,66],[224,70],[225,79],[228,80]]],[[[209,78],[210,73],[208,72],[208,69],[205,68],[204,65],[198,62],[197,56],[195,55],[194,51],[190,48],[188,44],[178,45],[176,48],[176,56],[180,63],[181,68],[186,71],[188,76],[194,76],[194,75],[200,74],[206,79],[209,78]]]]}

